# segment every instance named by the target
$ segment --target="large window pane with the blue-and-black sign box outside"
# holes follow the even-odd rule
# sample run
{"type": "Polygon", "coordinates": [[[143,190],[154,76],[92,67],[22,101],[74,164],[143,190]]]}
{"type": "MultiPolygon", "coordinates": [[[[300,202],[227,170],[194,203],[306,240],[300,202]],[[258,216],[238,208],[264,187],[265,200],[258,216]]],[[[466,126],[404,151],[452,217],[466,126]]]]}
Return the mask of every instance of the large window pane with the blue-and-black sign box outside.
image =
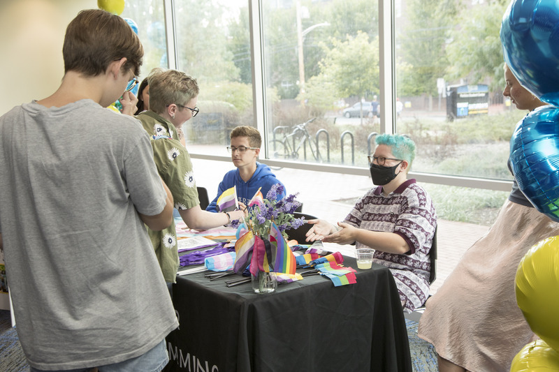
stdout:
{"type": "Polygon", "coordinates": [[[504,100],[506,1],[397,2],[395,108],[417,143],[414,170],[512,179],[509,140],[526,114],[504,100]]]}

